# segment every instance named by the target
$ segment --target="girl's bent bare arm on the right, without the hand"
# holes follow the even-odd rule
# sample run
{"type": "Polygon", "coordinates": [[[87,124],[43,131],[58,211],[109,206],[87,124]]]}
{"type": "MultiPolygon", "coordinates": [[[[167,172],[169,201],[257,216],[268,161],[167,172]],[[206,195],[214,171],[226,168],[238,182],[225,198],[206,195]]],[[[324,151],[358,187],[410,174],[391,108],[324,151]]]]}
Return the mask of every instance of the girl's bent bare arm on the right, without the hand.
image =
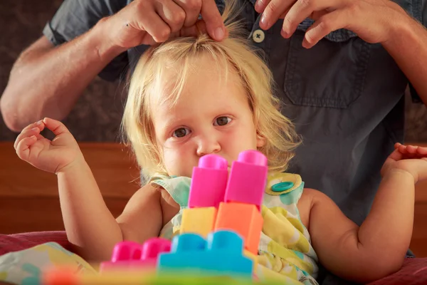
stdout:
{"type": "Polygon", "coordinates": [[[305,190],[303,195],[311,198],[308,229],[313,248],[332,273],[367,283],[401,268],[413,227],[411,173],[396,169],[384,175],[360,227],[322,192],[305,190]]]}

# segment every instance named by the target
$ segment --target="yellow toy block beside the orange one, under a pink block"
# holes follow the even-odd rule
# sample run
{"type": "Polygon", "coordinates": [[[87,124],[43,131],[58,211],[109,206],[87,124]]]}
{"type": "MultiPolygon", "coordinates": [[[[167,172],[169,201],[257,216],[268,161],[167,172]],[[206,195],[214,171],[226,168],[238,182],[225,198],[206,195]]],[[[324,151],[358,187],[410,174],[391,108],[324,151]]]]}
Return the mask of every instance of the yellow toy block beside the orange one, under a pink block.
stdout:
{"type": "Polygon", "coordinates": [[[179,232],[208,237],[208,234],[214,229],[216,212],[218,212],[216,207],[184,209],[179,232]]]}

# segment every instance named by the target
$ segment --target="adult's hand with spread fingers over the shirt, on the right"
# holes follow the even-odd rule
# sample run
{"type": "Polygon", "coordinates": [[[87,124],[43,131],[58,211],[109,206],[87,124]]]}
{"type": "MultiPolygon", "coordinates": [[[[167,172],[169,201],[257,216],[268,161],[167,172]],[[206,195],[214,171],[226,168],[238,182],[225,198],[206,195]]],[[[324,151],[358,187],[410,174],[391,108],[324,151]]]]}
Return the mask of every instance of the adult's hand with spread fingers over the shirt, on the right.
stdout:
{"type": "Polygon", "coordinates": [[[302,46],[311,48],[328,33],[347,28],[369,43],[384,43],[394,25],[408,17],[389,0],[257,0],[255,10],[263,13],[260,28],[268,29],[284,19],[281,34],[289,38],[306,18],[315,20],[305,33],[302,46]]]}

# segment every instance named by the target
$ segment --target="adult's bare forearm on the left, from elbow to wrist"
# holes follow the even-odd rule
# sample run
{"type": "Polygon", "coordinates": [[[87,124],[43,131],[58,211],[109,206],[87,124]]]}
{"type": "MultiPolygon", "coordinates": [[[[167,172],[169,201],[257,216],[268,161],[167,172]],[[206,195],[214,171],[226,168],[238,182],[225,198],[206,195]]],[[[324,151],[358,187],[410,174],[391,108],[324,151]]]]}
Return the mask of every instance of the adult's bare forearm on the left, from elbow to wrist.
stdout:
{"type": "Polygon", "coordinates": [[[90,81],[123,51],[105,40],[104,23],[56,48],[30,49],[21,55],[0,102],[11,130],[43,117],[60,120],[68,115],[90,81]]]}

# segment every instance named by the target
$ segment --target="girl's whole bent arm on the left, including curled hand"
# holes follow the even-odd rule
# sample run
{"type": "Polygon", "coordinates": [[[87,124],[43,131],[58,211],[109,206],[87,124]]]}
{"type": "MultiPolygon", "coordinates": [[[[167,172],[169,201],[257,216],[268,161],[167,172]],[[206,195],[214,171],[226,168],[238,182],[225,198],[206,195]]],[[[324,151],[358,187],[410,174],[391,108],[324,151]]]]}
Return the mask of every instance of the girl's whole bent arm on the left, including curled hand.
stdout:
{"type": "Polygon", "coordinates": [[[16,138],[16,153],[22,160],[58,176],[60,207],[68,240],[74,252],[88,261],[110,260],[117,242],[144,242],[157,237],[162,227],[160,194],[151,185],[138,190],[117,219],[102,198],[78,143],[65,125],[45,118],[24,128],[16,138]],[[56,137],[43,138],[48,128],[56,137]]]}

